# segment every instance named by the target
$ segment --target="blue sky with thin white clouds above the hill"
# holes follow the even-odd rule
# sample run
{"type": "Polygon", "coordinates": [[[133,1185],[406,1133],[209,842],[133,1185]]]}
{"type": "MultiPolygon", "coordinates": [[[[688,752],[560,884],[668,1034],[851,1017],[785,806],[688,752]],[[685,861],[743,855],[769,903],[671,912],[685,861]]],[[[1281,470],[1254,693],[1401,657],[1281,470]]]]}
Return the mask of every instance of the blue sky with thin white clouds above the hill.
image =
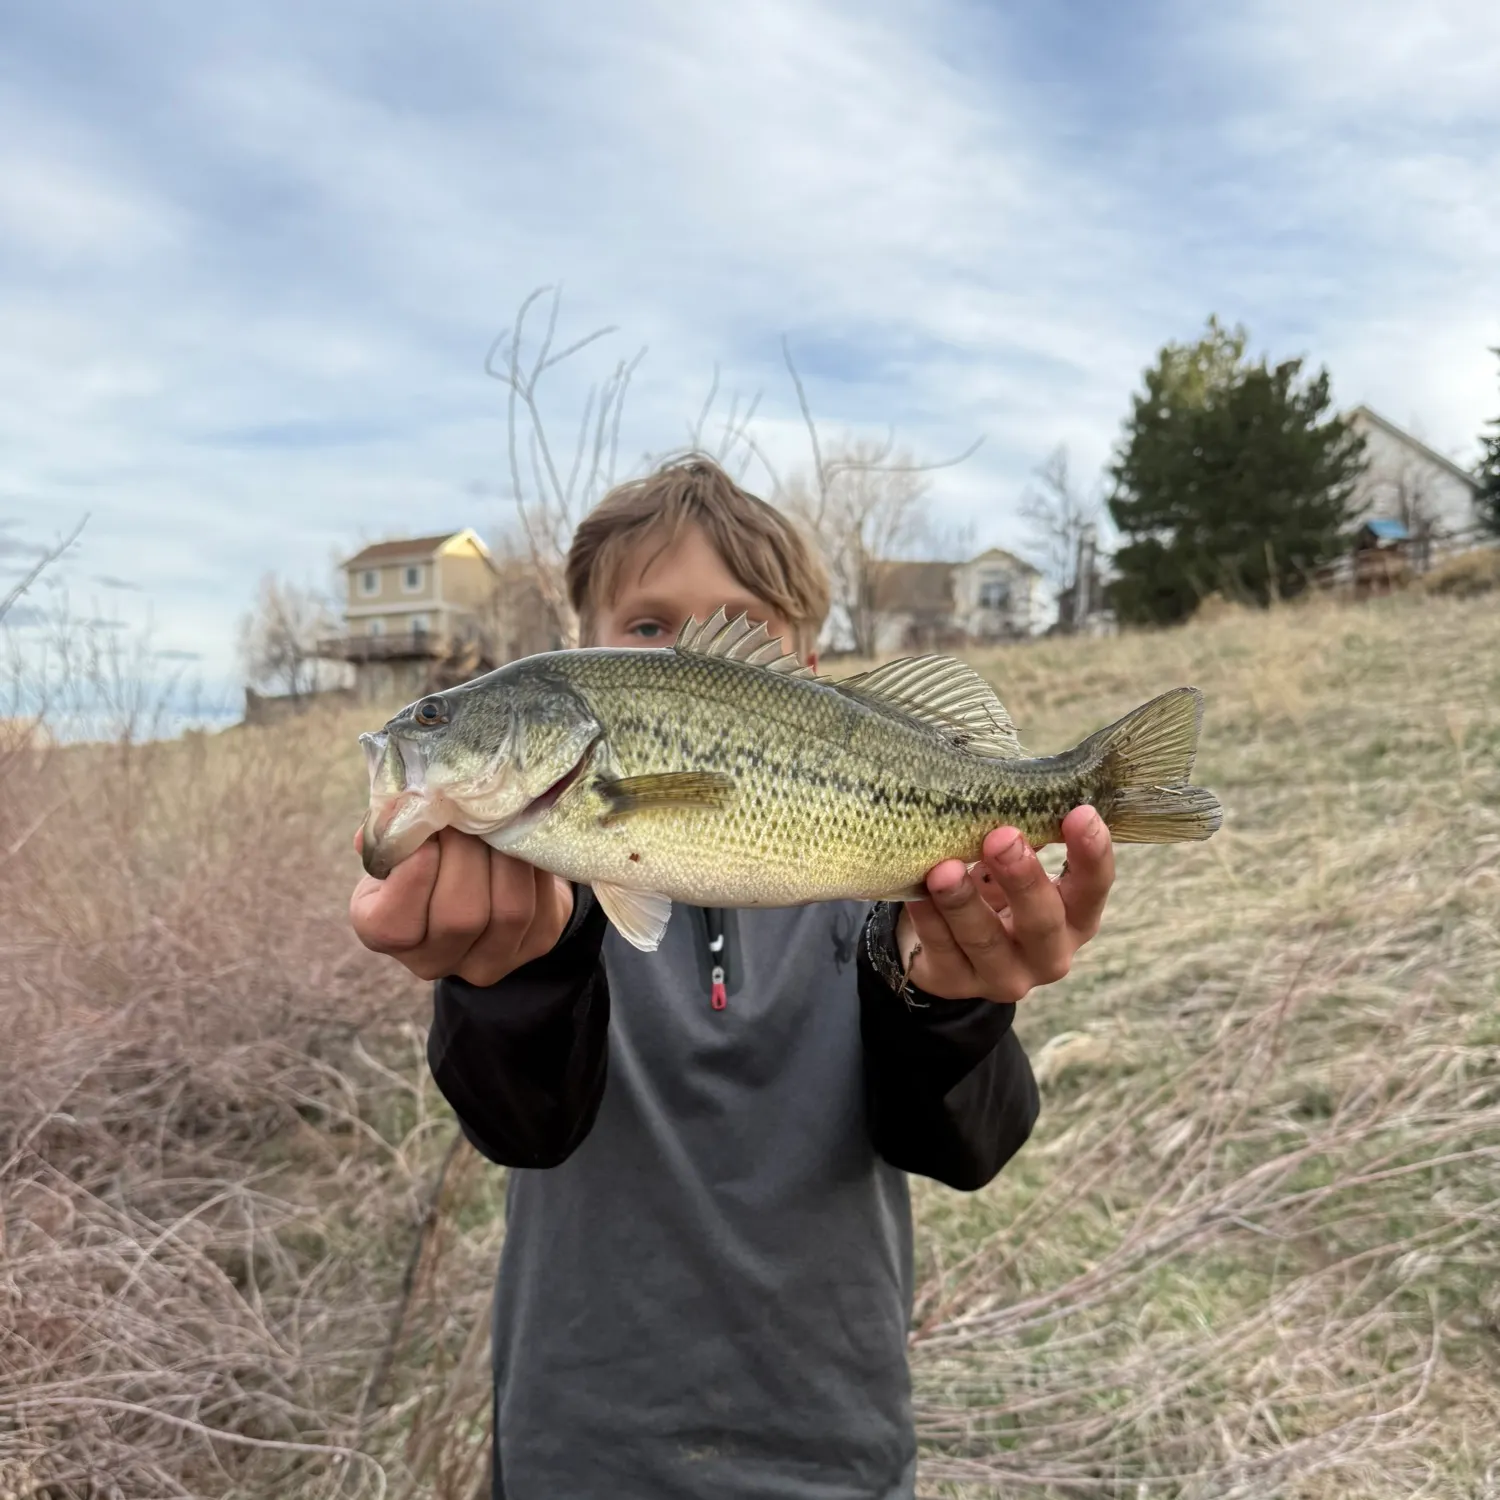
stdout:
{"type": "MultiPolygon", "coordinates": [[[[1492,0],[0,6],[0,596],[147,626],[225,702],[267,572],[510,514],[492,339],[560,285],[564,453],[645,350],[620,474],[759,398],[884,435],[1022,546],[1210,314],[1462,464],[1500,414],[1492,0]]],[[[753,466],[747,483],[768,489],[753,466]]]]}

